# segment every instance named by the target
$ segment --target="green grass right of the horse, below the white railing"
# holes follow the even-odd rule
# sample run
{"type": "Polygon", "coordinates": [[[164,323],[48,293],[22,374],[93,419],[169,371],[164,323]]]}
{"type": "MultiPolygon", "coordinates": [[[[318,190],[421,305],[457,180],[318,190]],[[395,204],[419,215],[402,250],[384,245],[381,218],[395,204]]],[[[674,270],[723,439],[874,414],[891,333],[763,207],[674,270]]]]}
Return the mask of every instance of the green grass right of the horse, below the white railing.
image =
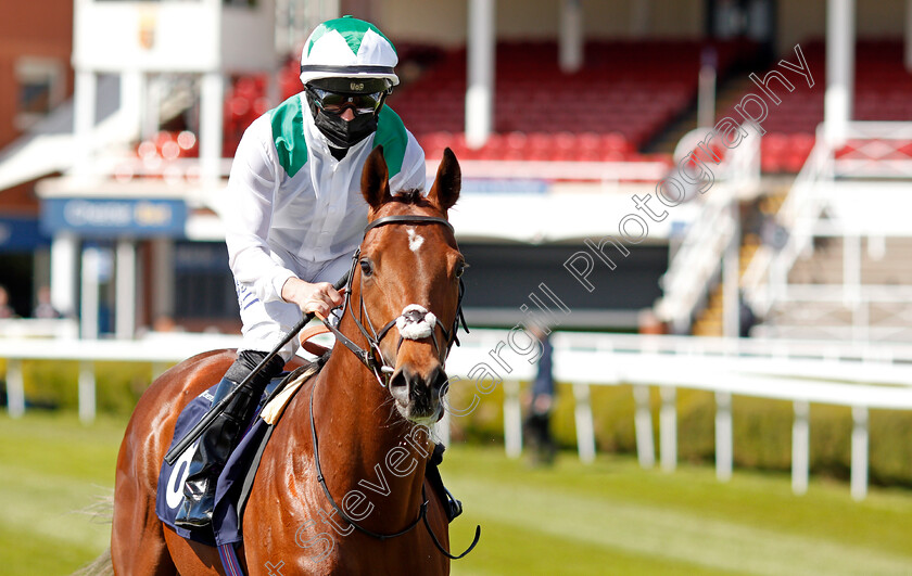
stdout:
{"type": "Polygon", "coordinates": [[[455,447],[444,477],[466,513],[452,530],[482,540],[453,573],[912,574],[912,494],[841,483],[791,495],[788,476],[708,468],[643,471],[629,458],[592,465],[563,455],[530,470],[501,448],[455,447]]]}

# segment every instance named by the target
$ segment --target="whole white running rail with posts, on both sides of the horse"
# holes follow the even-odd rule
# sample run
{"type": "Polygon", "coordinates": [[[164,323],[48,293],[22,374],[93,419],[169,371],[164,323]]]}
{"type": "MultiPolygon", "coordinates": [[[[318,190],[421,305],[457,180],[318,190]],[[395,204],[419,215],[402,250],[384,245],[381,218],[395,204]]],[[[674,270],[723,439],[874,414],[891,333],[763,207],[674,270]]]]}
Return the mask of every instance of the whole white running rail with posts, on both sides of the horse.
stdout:
{"type": "MultiPolygon", "coordinates": [[[[2,340],[0,358],[7,360],[9,411],[18,417],[25,410],[24,360],[79,361],[79,414],[88,422],[94,418],[96,361],[148,362],[153,373],[160,373],[193,354],[235,347],[239,342],[236,336],[190,334],[136,342],[2,340]]],[[[867,489],[869,410],[912,410],[912,345],[558,333],[554,346],[556,380],[573,389],[578,449],[583,461],[595,457],[590,405],[593,385],[633,385],[637,453],[644,466],[655,464],[648,388],[660,387],[660,462],[666,470],[674,469],[677,460],[676,389],[715,393],[720,479],[727,479],[732,471],[732,395],[784,399],[795,406],[793,488],[801,494],[808,486],[809,404],[848,406],[854,420],[851,492],[860,499],[867,489]]],[[[473,382],[468,379],[478,376],[482,363],[501,376],[502,384],[487,381],[476,387],[477,395],[483,396],[495,384],[504,386],[504,439],[511,457],[519,456],[522,447],[520,383],[533,377],[534,360],[534,347],[522,333],[511,338],[507,332],[478,330],[463,337],[463,346],[454,349],[447,362],[448,373],[463,379],[453,380],[454,386],[469,387],[470,395],[473,382]]],[[[459,408],[454,407],[454,411],[459,408]]]]}

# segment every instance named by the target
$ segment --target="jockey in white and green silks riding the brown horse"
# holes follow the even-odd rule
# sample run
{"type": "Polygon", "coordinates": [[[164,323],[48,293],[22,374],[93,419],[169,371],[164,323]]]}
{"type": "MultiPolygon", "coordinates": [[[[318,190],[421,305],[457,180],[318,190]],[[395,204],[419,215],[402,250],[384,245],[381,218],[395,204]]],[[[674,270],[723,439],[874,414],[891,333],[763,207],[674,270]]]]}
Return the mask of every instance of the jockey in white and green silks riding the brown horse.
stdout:
{"type": "MultiPolygon", "coordinates": [[[[301,54],[304,90],[244,132],[223,204],[228,261],[243,322],[243,345],[215,393],[235,389],[302,318],[329,318],[342,304],[332,287],[363,240],[368,206],[360,175],[377,145],[390,189],[425,189],[425,152],[383,103],[398,84],[392,42],[344,16],[317,26],[301,54]]],[[[212,520],[215,484],[269,381],[297,348],[292,338],[202,434],[176,524],[212,520]]]]}

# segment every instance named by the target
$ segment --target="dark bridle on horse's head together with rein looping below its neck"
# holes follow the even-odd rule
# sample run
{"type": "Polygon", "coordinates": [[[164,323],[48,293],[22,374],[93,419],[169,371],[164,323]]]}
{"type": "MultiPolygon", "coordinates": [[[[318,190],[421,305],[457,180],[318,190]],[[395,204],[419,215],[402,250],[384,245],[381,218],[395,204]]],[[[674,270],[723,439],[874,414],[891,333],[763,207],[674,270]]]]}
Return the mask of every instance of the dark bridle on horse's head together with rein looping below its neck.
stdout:
{"type": "MultiPolygon", "coordinates": [[[[371,221],[370,223],[367,225],[367,227],[364,229],[364,233],[365,233],[365,235],[367,235],[367,232],[375,229],[375,228],[378,228],[380,226],[392,225],[392,223],[411,223],[411,225],[436,223],[436,225],[445,226],[451,232],[453,232],[453,225],[451,225],[444,218],[438,218],[435,216],[401,215],[401,216],[384,216],[382,218],[377,218],[376,220],[373,220],[373,221],[371,221]]],[[[404,315],[401,315],[401,316],[394,318],[393,320],[390,320],[378,332],[377,330],[375,330],[373,323],[370,320],[370,316],[367,313],[367,308],[365,307],[365,304],[364,304],[364,290],[359,290],[358,291],[358,293],[359,293],[358,294],[358,300],[359,300],[358,302],[358,308],[360,309],[362,317],[367,322],[367,327],[365,327],[358,320],[357,316],[352,310],[351,294],[352,294],[352,284],[353,284],[354,278],[355,278],[355,267],[358,265],[359,258],[360,258],[360,248],[358,248],[355,252],[354,256],[352,257],[352,268],[349,271],[349,281],[346,283],[346,289],[347,290],[345,291],[345,299],[342,304],[342,317],[344,317],[346,312],[351,312],[352,319],[355,321],[355,325],[357,325],[360,333],[364,335],[365,338],[367,338],[367,342],[369,343],[368,349],[364,349],[360,346],[358,346],[357,344],[355,344],[354,342],[352,342],[351,338],[349,338],[347,336],[342,334],[339,331],[339,329],[337,329],[334,325],[332,325],[331,322],[329,322],[327,320],[324,320],[324,324],[330,330],[330,332],[332,332],[335,335],[335,338],[337,338],[338,342],[341,342],[346,348],[352,350],[352,353],[358,358],[358,360],[360,360],[363,364],[365,364],[371,372],[373,372],[373,375],[377,377],[377,381],[380,383],[381,386],[389,387],[389,380],[388,380],[387,375],[392,373],[394,369],[393,369],[393,367],[391,367],[387,362],[385,358],[383,357],[383,353],[380,350],[380,342],[383,340],[383,336],[385,336],[390,332],[390,330],[394,325],[397,324],[397,321],[402,321],[403,318],[406,315],[404,313],[404,315]],[[370,329],[370,332],[368,332],[368,329],[370,329]],[[375,355],[377,355],[377,356],[375,356],[375,355]]],[[[441,363],[443,363],[443,361],[446,360],[446,356],[449,355],[449,349],[453,347],[453,344],[456,344],[456,345],[459,344],[459,341],[456,337],[456,331],[459,328],[459,323],[461,322],[463,328],[466,330],[466,332],[469,331],[468,325],[466,325],[466,318],[463,316],[463,294],[464,293],[465,293],[465,284],[463,283],[463,279],[460,278],[459,279],[459,296],[458,296],[458,300],[456,303],[456,318],[453,320],[453,325],[449,328],[449,330],[447,330],[446,327],[436,317],[433,318],[434,321],[433,321],[432,327],[431,327],[430,336],[433,337],[434,348],[436,349],[439,358],[440,358],[440,355],[443,350],[441,350],[441,346],[440,346],[440,344],[438,342],[438,338],[436,338],[436,329],[438,328],[440,328],[440,330],[443,332],[444,342],[446,343],[446,351],[445,351],[444,357],[441,358],[441,363]]],[[[425,318],[427,318],[427,316],[428,315],[426,315],[425,318]]],[[[341,320],[341,318],[340,318],[340,320],[341,320]]],[[[414,318],[406,318],[405,319],[406,322],[410,322],[410,321],[414,321],[414,320],[415,320],[414,318]]],[[[403,343],[403,335],[402,335],[402,332],[401,332],[398,344],[396,346],[397,350],[402,346],[402,343],[403,343]]],[[[463,552],[459,555],[451,554],[449,551],[447,551],[446,549],[443,548],[443,545],[440,543],[440,540],[438,539],[436,535],[431,529],[431,524],[428,521],[428,496],[425,491],[423,484],[421,485],[422,502],[421,502],[421,505],[418,509],[418,517],[416,517],[415,521],[413,521],[408,526],[406,526],[405,528],[403,528],[402,530],[398,530],[396,533],[377,533],[377,532],[369,530],[369,529],[365,528],[364,526],[359,525],[357,522],[355,522],[351,516],[349,516],[349,514],[345,513],[344,510],[342,510],[342,507],[340,507],[335,502],[335,499],[332,498],[332,495],[329,491],[329,487],[327,487],[327,485],[326,485],[326,478],[324,477],[322,470],[320,469],[319,443],[317,440],[317,425],[316,425],[316,422],[314,421],[314,391],[316,391],[316,388],[317,388],[317,385],[315,383],[314,386],[311,388],[311,436],[314,439],[315,471],[317,473],[317,482],[319,482],[320,486],[322,487],[324,494],[326,495],[327,500],[329,500],[329,503],[332,505],[332,509],[339,514],[339,517],[341,517],[342,520],[347,522],[351,526],[353,526],[355,529],[357,529],[362,534],[366,534],[367,536],[370,536],[371,538],[376,538],[380,541],[388,540],[390,538],[395,538],[397,536],[402,536],[404,534],[407,534],[407,533],[411,532],[411,529],[415,528],[415,526],[417,526],[419,522],[423,521],[425,527],[428,529],[428,534],[431,536],[431,540],[434,542],[434,546],[446,558],[448,558],[451,560],[459,560],[460,558],[465,556],[469,552],[471,552],[472,549],[474,549],[476,545],[478,543],[479,538],[481,537],[481,526],[476,527],[474,539],[472,540],[472,543],[469,546],[469,548],[466,549],[465,552],[463,552]]]]}

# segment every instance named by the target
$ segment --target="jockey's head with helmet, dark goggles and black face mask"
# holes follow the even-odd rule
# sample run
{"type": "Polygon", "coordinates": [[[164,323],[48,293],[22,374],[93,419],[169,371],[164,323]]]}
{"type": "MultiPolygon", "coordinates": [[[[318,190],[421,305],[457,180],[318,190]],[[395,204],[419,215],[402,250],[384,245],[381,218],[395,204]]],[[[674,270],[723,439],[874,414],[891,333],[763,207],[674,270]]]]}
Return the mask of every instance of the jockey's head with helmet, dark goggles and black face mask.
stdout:
{"type": "Polygon", "coordinates": [[[301,82],[320,132],[347,149],[377,129],[383,101],[398,84],[396,49],[375,25],[352,16],[327,21],[301,53],[301,82]],[[354,117],[342,118],[345,110],[354,117]]]}

